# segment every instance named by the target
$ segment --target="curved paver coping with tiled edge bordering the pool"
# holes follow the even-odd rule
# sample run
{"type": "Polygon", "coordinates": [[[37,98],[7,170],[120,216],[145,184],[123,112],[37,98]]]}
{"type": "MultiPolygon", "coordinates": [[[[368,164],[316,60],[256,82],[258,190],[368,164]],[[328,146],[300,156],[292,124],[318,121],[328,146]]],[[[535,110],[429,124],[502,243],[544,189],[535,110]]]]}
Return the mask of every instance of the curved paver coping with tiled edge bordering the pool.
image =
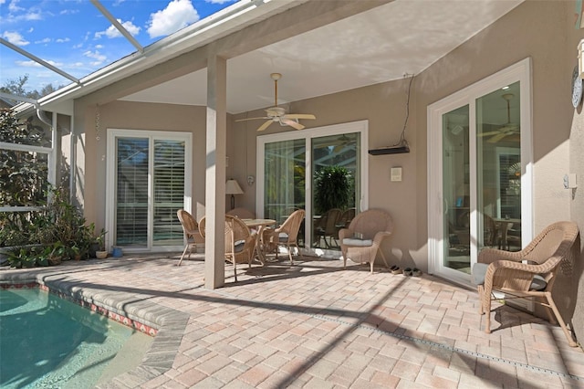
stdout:
{"type": "Polygon", "coordinates": [[[84,301],[88,304],[88,308],[101,314],[108,312],[111,320],[120,321],[137,331],[144,331],[150,335],[154,335],[155,332],[151,347],[144,354],[139,366],[96,387],[136,387],[172,368],[190,318],[188,313],[137,299],[125,292],[79,286],[77,280],[68,279],[67,274],[61,271],[62,268],[56,268],[55,271],[47,268],[39,269],[39,271],[31,270],[33,271],[26,273],[1,271],[0,287],[34,283],[66,299],[84,301]],[[123,321],[124,318],[130,322],[123,321]],[[140,327],[140,324],[143,327],[140,327]],[[151,329],[154,331],[150,331],[151,329]]]}

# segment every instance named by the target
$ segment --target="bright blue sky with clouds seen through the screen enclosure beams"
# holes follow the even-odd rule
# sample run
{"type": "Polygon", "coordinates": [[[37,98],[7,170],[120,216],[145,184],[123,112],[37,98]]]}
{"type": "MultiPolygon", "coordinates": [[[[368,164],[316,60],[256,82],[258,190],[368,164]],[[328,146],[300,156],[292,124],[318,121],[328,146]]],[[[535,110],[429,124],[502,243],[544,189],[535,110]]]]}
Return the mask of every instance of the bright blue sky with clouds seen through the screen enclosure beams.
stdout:
{"type": "MultiPolygon", "coordinates": [[[[142,47],[235,0],[99,0],[142,47]]],[[[81,79],[137,51],[89,0],[0,0],[0,37],[81,79]]],[[[26,90],[71,83],[0,45],[0,86],[28,76],[26,90]]]]}

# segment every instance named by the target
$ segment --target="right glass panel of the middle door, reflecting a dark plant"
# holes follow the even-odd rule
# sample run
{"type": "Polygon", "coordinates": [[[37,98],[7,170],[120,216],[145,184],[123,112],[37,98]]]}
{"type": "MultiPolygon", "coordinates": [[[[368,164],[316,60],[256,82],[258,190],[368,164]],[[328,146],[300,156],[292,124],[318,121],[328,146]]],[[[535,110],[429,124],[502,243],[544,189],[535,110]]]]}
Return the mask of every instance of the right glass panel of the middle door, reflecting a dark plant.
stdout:
{"type": "Polygon", "coordinates": [[[349,226],[360,198],[360,133],[312,138],[312,247],[340,250],[339,229],[349,226]]]}

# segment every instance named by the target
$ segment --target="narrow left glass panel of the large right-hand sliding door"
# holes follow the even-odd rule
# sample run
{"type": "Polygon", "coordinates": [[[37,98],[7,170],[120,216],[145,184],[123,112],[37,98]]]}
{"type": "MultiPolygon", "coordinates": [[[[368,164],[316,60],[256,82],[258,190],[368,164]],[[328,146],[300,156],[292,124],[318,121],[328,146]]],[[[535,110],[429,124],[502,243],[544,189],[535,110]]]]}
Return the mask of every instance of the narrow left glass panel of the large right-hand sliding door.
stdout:
{"type": "Polygon", "coordinates": [[[443,114],[443,267],[468,272],[471,255],[469,106],[443,114]]]}

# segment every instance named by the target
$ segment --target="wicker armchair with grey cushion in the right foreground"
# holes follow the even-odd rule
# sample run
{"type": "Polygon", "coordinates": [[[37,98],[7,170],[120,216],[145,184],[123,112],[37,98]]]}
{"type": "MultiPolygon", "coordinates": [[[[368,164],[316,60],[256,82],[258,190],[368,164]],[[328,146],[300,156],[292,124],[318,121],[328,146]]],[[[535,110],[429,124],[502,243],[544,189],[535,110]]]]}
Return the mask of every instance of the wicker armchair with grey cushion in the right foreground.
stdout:
{"type": "MultiPolygon", "coordinates": [[[[556,319],[569,345],[577,346],[552,299],[552,288],[558,265],[569,260],[578,233],[576,223],[557,222],[547,226],[521,251],[485,248],[479,253],[472,275],[481,302],[480,313],[486,313],[486,333],[491,332],[494,291],[499,291],[505,293],[506,299],[533,298],[534,302],[546,307],[549,321],[555,323],[556,319]]],[[[501,298],[497,296],[496,300],[501,298]]]]}

